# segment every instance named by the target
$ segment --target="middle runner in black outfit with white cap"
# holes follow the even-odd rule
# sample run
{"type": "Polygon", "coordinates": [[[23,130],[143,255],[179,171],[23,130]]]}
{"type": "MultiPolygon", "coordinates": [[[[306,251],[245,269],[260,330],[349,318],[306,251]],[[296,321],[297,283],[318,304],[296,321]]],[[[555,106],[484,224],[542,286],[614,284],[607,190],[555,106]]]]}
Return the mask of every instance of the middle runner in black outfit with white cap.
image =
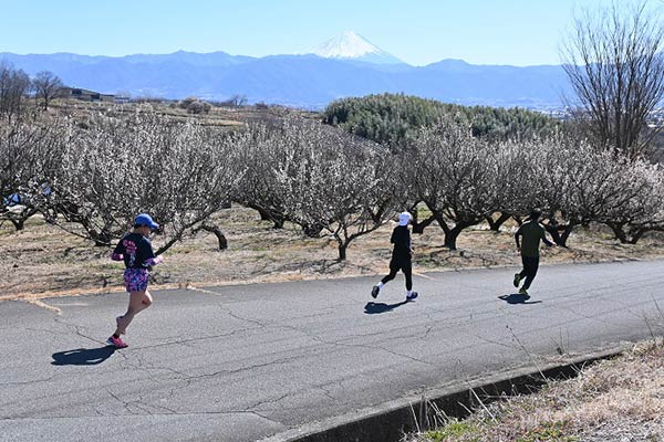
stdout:
{"type": "Polygon", "coordinates": [[[400,270],[404,272],[404,275],[406,276],[406,301],[412,301],[417,297],[417,292],[413,292],[413,264],[411,262],[413,249],[411,248],[409,222],[411,213],[400,213],[398,225],[392,231],[392,238],[390,240],[390,242],[394,244],[392,260],[390,261],[390,274],[381,280],[377,285],[373,286],[371,295],[374,298],[378,296],[383,285],[394,280],[400,270]]]}

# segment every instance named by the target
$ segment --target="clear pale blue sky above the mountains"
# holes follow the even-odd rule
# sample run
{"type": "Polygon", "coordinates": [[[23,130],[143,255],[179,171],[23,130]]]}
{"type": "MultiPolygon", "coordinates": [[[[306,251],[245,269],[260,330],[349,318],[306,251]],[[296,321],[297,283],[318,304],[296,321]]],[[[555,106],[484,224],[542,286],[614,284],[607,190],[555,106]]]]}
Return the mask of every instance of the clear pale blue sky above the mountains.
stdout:
{"type": "Polygon", "coordinates": [[[0,52],[302,53],[355,31],[414,65],[556,64],[574,11],[610,0],[0,0],[0,52]]]}

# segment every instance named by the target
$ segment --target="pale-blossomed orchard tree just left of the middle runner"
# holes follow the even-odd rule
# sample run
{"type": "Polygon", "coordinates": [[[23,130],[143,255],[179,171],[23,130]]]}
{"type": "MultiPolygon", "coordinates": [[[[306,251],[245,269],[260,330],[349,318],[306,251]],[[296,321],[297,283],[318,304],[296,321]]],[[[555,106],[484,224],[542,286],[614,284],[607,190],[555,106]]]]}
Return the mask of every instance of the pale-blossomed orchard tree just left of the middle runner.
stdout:
{"type": "Polygon", "coordinates": [[[319,227],[338,243],[339,261],[352,241],[395,214],[390,151],[341,129],[305,120],[287,122],[277,182],[289,219],[319,227]]]}

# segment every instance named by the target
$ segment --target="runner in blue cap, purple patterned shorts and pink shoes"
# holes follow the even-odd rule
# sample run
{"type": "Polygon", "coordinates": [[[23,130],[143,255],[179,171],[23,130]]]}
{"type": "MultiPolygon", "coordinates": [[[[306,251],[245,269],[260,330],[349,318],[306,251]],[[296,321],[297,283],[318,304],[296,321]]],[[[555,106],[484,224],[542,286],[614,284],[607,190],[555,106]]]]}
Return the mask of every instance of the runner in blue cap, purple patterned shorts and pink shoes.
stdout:
{"type": "Polygon", "coordinates": [[[106,340],[106,344],[116,348],[127,347],[120,335],[125,334],[134,316],[152,305],[153,298],[147,291],[149,269],[164,259],[160,255],[155,256],[148,235],[158,227],[149,214],[141,213],[134,220],[134,231],[124,235],[111,254],[113,261],[125,263],[124,282],[129,293],[127,312],[115,318],[115,333],[106,340]]]}

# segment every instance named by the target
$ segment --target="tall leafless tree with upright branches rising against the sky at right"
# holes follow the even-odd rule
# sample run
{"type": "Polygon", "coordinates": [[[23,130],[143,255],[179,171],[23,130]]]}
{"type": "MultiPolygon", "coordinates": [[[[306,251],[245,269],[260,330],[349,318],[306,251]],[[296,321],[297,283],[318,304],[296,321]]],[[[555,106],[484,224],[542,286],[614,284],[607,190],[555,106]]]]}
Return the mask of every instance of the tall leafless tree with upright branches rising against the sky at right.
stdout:
{"type": "Polygon", "coordinates": [[[647,148],[646,119],[664,97],[664,27],[645,1],[630,4],[584,11],[561,53],[578,115],[599,143],[634,159],[647,148]]]}

